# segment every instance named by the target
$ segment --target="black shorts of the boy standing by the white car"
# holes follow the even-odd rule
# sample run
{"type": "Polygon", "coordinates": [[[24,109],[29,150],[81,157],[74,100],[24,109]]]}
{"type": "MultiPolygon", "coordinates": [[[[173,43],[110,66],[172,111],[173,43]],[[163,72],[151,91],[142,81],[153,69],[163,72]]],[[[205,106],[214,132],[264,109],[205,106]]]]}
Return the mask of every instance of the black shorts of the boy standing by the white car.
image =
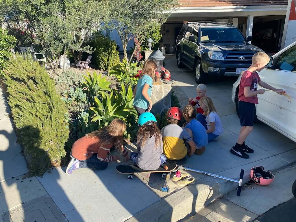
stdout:
{"type": "Polygon", "coordinates": [[[239,112],[241,126],[253,126],[255,117],[255,104],[239,101],[239,112]]]}

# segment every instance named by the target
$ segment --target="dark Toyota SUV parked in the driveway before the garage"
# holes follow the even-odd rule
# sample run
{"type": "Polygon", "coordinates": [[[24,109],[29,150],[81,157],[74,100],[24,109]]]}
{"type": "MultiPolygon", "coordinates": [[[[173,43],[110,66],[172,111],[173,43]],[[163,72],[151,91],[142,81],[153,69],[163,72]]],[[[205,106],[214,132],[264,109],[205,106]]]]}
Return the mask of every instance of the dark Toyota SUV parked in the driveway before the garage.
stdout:
{"type": "Polygon", "coordinates": [[[226,22],[188,22],[176,40],[177,65],[194,70],[197,83],[205,83],[209,75],[238,76],[263,51],[249,44],[251,40],[226,22]]]}

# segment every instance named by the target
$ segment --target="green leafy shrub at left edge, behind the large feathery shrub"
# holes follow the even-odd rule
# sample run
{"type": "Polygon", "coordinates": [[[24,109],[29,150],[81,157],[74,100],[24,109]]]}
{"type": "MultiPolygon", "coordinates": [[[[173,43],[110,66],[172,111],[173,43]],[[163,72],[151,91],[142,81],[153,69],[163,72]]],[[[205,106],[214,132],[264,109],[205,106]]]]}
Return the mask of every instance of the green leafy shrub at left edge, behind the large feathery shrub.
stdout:
{"type": "Polygon", "coordinates": [[[3,74],[5,62],[11,56],[10,49],[14,48],[15,44],[15,37],[8,35],[6,30],[0,28],[0,75],[3,74]]]}

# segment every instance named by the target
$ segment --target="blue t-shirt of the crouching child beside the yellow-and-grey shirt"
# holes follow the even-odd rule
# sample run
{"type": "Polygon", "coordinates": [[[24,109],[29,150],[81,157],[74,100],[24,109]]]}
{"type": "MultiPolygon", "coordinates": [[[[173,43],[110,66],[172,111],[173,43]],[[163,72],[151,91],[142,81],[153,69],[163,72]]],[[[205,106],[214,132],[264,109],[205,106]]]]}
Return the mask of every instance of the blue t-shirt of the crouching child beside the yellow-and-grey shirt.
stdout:
{"type": "Polygon", "coordinates": [[[196,119],[191,120],[190,123],[185,126],[185,129],[186,128],[192,131],[193,141],[199,148],[207,145],[207,131],[199,121],[196,119]]]}

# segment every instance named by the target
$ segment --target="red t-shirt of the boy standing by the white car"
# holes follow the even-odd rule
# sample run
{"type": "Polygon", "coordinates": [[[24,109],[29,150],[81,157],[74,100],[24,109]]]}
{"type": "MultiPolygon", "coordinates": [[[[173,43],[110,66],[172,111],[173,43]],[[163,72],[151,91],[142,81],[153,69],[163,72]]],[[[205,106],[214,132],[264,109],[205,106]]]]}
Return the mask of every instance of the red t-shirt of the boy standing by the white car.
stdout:
{"type": "Polygon", "coordinates": [[[257,95],[252,97],[244,96],[244,87],[250,86],[251,91],[256,91],[258,88],[258,83],[260,82],[260,77],[257,72],[252,73],[250,71],[245,71],[242,74],[242,78],[239,84],[239,101],[250,102],[258,104],[257,95]]]}

